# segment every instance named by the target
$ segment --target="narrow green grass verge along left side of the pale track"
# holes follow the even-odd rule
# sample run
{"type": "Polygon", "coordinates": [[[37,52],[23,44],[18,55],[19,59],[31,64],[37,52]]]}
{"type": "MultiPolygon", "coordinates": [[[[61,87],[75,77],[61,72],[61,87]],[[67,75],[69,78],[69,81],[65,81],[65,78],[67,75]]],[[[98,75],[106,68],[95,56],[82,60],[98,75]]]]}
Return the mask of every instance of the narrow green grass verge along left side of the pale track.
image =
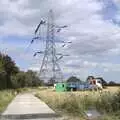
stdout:
{"type": "Polygon", "coordinates": [[[14,97],[13,90],[0,91],[0,113],[5,110],[14,97]]]}

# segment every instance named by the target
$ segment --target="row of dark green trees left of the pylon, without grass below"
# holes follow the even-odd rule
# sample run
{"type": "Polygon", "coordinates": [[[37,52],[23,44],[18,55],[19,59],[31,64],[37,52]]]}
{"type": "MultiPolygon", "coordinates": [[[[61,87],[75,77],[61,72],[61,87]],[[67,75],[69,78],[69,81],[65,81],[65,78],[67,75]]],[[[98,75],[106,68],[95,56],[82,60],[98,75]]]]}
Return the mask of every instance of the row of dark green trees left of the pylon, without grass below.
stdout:
{"type": "Polygon", "coordinates": [[[0,53],[0,90],[34,87],[42,84],[36,72],[20,71],[8,55],[0,53]]]}

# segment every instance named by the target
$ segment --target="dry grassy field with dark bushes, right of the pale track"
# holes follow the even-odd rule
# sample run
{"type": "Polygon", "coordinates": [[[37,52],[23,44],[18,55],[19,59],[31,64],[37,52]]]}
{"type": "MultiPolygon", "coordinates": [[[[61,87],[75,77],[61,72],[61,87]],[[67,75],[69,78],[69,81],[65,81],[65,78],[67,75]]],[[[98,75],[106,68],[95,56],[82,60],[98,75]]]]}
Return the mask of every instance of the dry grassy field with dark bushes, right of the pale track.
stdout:
{"type": "MultiPolygon", "coordinates": [[[[45,101],[52,109],[60,114],[85,120],[85,111],[97,109],[101,114],[100,120],[120,119],[119,87],[108,87],[102,92],[55,92],[53,89],[40,90],[36,96],[45,101]]],[[[69,118],[69,119],[70,119],[69,118]]],[[[98,120],[98,119],[97,119],[98,120]]]]}

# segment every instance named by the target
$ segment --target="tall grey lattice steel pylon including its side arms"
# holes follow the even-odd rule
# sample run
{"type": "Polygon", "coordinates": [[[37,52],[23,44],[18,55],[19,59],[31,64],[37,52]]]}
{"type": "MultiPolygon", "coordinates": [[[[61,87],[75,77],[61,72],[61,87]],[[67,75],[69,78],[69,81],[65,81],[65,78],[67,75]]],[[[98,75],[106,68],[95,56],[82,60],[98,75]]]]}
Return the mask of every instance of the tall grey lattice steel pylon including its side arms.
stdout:
{"type": "MultiPolygon", "coordinates": [[[[39,33],[39,28],[41,25],[47,26],[47,35],[46,35],[46,47],[44,51],[38,51],[34,54],[36,56],[37,53],[44,54],[42,65],[40,67],[39,77],[41,80],[43,80],[45,83],[55,83],[55,82],[62,82],[63,81],[63,74],[61,71],[61,68],[59,66],[59,60],[63,56],[61,53],[56,52],[56,38],[55,33],[60,32],[62,28],[65,28],[67,26],[56,26],[54,23],[54,14],[53,11],[50,10],[48,14],[48,20],[44,21],[41,20],[40,24],[37,26],[35,30],[35,34],[37,32],[39,33]]],[[[38,34],[33,40],[39,39],[40,34],[38,34]]],[[[61,41],[64,43],[65,42],[61,41]]]]}

